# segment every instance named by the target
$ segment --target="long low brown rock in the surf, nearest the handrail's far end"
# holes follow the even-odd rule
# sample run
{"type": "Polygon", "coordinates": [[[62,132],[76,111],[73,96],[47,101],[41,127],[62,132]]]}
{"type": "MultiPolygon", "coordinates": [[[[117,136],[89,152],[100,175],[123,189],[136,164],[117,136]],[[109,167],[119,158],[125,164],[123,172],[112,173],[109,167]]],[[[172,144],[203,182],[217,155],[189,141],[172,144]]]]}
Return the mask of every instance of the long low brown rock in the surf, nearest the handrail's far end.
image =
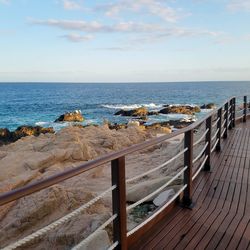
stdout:
{"type": "Polygon", "coordinates": [[[159,111],[160,114],[186,114],[193,115],[200,112],[198,106],[180,105],[180,106],[166,106],[159,111]]]}

